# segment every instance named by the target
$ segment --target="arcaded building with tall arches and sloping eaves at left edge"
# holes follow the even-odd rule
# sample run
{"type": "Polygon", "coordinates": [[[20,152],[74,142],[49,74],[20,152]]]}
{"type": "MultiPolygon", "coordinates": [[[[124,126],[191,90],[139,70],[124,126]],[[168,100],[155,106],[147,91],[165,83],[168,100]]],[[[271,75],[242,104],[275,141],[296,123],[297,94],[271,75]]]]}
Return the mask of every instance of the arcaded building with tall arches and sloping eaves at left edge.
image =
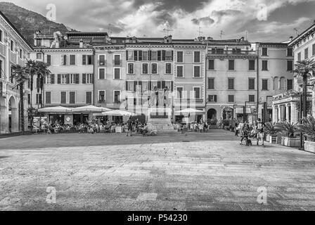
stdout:
{"type": "MultiPolygon", "coordinates": [[[[0,134],[20,131],[20,101],[27,105],[27,98],[20,98],[19,86],[11,79],[11,66],[25,65],[31,51],[32,46],[0,12],[0,134]]],[[[25,84],[25,96],[29,91],[25,84]]],[[[26,130],[26,109],[24,115],[26,130]]]]}

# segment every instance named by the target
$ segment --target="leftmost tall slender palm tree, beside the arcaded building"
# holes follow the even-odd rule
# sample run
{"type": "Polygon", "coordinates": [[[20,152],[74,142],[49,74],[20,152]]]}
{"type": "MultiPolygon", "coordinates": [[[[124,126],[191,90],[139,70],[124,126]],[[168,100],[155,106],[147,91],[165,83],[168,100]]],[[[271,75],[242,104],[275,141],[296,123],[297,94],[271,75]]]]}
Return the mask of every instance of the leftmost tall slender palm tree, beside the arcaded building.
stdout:
{"type": "Polygon", "coordinates": [[[20,65],[12,65],[11,79],[15,79],[18,82],[20,90],[20,118],[21,118],[21,130],[24,134],[24,84],[28,80],[27,68],[20,65]]]}

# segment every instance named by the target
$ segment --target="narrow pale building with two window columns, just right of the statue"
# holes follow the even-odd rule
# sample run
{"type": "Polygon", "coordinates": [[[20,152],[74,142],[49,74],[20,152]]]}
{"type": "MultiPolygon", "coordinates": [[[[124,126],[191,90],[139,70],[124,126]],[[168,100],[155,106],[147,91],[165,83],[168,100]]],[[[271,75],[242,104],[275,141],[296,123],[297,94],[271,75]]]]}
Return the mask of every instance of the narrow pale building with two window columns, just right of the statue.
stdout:
{"type": "MultiPolygon", "coordinates": [[[[195,108],[205,112],[205,38],[174,39],[174,119],[181,120],[179,110],[195,108]]],[[[193,115],[205,120],[205,114],[193,115]]]]}

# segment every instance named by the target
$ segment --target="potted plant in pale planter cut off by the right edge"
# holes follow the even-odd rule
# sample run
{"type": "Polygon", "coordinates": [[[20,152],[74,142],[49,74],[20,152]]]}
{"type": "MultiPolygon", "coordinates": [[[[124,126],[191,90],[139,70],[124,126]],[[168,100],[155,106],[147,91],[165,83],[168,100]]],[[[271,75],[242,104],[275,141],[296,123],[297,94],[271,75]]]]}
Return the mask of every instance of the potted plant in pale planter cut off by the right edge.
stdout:
{"type": "Polygon", "coordinates": [[[298,125],[299,131],[304,133],[307,141],[304,142],[304,150],[315,153],[315,118],[312,116],[304,117],[303,123],[298,125]]]}

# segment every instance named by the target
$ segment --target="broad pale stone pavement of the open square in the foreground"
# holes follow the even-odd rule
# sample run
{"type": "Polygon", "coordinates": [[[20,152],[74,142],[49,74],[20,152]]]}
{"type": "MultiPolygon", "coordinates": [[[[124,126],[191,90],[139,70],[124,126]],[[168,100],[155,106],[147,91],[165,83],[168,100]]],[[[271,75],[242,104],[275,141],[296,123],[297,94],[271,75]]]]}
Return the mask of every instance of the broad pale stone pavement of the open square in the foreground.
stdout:
{"type": "Polygon", "coordinates": [[[228,131],[1,139],[0,210],[315,210],[314,154],[237,140],[228,131]]]}

